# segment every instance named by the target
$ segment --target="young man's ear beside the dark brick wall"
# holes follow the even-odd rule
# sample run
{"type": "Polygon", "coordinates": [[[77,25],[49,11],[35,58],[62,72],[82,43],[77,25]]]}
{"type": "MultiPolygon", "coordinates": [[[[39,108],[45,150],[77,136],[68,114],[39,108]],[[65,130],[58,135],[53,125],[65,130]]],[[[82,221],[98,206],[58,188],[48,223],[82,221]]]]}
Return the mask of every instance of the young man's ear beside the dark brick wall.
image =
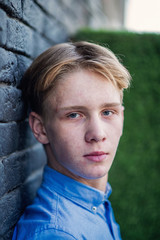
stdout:
{"type": "Polygon", "coordinates": [[[47,144],[49,142],[41,116],[35,112],[31,112],[29,115],[29,125],[38,142],[42,144],[47,144]]]}

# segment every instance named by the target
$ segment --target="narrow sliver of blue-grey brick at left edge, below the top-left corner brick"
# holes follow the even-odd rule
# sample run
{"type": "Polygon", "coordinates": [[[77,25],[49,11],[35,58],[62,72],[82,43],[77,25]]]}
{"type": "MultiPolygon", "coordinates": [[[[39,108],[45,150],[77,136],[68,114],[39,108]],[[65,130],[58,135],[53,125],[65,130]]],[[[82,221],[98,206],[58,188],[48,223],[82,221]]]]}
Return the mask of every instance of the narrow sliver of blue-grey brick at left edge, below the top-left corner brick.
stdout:
{"type": "Polygon", "coordinates": [[[6,44],[7,39],[7,17],[6,13],[0,9],[0,45],[3,46],[6,44]]]}

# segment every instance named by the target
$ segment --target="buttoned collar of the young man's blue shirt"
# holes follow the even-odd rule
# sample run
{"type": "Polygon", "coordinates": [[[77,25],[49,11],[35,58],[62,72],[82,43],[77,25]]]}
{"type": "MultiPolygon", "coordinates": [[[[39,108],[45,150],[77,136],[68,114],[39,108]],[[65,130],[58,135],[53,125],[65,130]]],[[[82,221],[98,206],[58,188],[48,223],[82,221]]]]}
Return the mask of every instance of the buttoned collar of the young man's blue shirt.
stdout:
{"type": "Polygon", "coordinates": [[[98,189],[67,177],[48,166],[45,166],[44,169],[43,183],[47,185],[50,191],[56,191],[90,211],[93,209],[93,206],[98,207],[107,201],[112,192],[109,183],[106,186],[106,193],[103,193],[98,189]]]}

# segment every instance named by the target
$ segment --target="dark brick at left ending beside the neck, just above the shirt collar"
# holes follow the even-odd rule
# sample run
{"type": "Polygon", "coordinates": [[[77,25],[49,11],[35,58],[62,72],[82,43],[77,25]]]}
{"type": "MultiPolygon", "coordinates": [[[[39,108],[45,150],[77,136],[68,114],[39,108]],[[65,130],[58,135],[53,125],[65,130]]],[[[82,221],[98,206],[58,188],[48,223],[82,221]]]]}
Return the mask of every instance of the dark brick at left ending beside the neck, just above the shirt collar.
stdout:
{"type": "Polygon", "coordinates": [[[42,169],[45,163],[46,155],[40,144],[3,157],[0,161],[1,183],[3,184],[0,188],[0,197],[21,186],[30,175],[34,176],[34,172],[42,169]]]}

